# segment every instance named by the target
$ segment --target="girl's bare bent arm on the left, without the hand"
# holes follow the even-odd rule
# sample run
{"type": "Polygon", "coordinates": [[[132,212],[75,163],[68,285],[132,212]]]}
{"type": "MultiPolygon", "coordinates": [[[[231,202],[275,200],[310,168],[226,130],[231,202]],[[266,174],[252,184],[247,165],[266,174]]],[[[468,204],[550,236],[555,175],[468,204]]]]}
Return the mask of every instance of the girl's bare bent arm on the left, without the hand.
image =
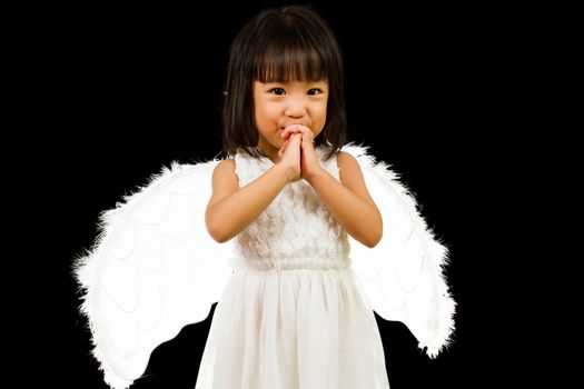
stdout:
{"type": "Polygon", "coordinates": [[[264,174],[239,189],[235,161],[219,162],[212,172],[212,194],[205,222],[212,239],[222,243],[245,229],[291,180],[290,171],[274,164],[264,174]]]}

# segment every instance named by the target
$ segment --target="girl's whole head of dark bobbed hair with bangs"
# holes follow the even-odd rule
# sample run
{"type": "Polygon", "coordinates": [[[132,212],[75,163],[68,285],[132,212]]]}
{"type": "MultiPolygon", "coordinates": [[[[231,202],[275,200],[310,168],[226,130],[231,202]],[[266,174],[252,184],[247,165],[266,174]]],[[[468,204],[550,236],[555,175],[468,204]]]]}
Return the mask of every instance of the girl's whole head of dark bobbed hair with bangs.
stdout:
{"type": "MultiPolygon", "coordinates": [[[[265,9],[238,32],[230,47],[222,103],[226,157],[257,148],[254,81],[328,81],[327,117],[315,146],[328,147],[326,159],[346,142],[343,56],[327,23],[308,6],[265,9]]],[[[264,156],[265,157],[265,156],[264,156]]]]}

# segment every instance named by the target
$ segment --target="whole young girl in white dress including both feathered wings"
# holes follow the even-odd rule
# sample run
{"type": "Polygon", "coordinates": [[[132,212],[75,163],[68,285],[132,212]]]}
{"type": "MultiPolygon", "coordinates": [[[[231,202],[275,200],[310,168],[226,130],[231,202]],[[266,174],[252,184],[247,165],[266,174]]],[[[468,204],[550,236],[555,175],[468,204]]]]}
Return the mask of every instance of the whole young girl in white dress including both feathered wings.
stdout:
{"type": "Polygon", "coordinates": [[[454,328],[446,249],[346,144],[340,51],[310,8],[265,10],[235,38],[224,131],[226,159],[165,171],[78,262],[106,381],[129,387],[215,301],[197,389],[388,388],[373,309],[434,357],[454,328]]]}

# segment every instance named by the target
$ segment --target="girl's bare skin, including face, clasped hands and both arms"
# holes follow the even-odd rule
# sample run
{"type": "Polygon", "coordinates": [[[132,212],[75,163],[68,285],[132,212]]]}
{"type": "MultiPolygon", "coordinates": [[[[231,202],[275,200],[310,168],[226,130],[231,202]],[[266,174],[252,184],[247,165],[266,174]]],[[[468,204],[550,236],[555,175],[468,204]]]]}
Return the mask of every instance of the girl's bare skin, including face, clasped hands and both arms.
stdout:
{"type": "Polygon", "coordinates": [[[337,153],[340,182],[320,167],[313,141],[325,126],[327,99],[326,81],[254,84],[258,147],[274,166],[239,188],[235,161],[217,164],[205,216],[215,240],[225,242],[237,236],[289,182],[303,178],[353,238],[367,247],[379,242],[382,216],[357,160],[347,152],[337,153]]]}

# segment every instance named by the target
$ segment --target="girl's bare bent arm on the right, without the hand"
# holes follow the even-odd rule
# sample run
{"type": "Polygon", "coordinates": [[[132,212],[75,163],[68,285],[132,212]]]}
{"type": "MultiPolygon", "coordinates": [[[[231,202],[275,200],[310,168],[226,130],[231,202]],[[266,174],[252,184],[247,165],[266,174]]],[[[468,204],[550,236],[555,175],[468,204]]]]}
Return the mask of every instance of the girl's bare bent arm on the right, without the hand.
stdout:
{"type": "Polygon", "coordinates": [[[383,220],[372,199],[357,160],[339,151],[340,182],[321,169],[308,183],[315,189],[335,220],[363,245],[373,248],[383,236],[383,220]]]}

